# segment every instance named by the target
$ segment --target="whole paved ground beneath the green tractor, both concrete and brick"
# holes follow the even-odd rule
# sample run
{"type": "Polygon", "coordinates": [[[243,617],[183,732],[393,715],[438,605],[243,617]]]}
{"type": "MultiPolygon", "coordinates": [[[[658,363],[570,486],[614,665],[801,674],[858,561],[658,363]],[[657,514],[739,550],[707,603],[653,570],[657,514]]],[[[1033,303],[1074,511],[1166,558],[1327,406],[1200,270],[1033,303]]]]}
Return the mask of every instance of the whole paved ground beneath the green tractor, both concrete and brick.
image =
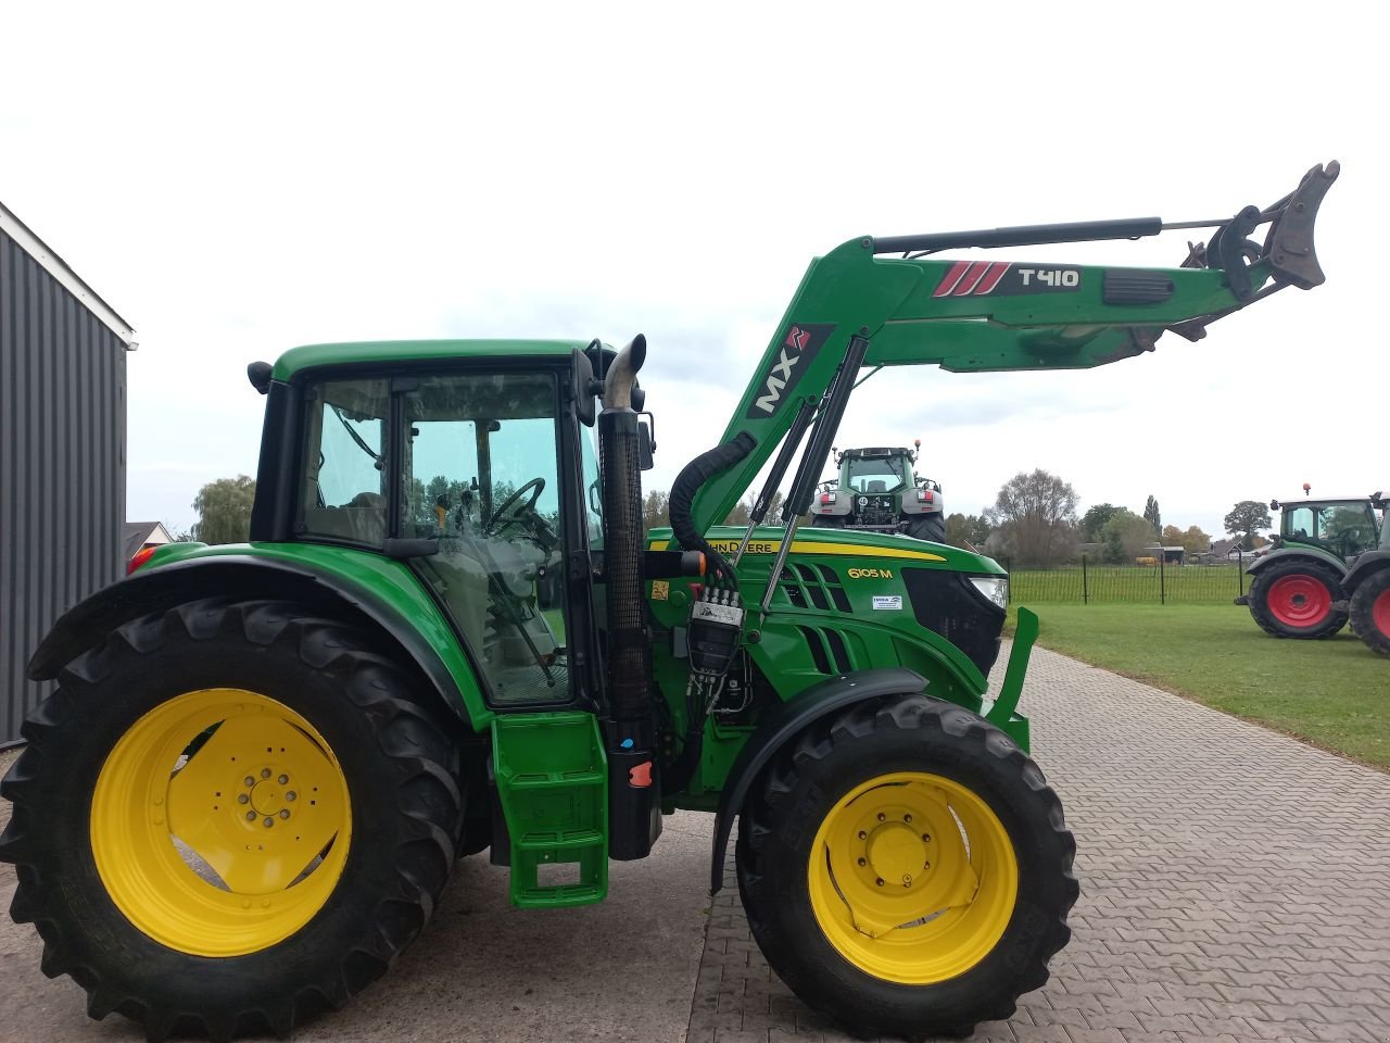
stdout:
{"type": "MultiPolygon", "coordinates": [[[[1390,1043],[1390,776],[1047,651],[1024,700],[1081,900],[1052,980],[974,1039],[1390,1043]]],[[[468,859],[393,972],[296,1040],[848,1039],[771,979],[731,880],[705,928],[710,826],[669,820],[585,909],[510,909],[505,872],[468,859]]],[[[0,866],[4,907],[13,889],[0,866]]],[[[38,955],[0,915],[0,1043],[143,1037],[88,1021],[38,955]]]]}

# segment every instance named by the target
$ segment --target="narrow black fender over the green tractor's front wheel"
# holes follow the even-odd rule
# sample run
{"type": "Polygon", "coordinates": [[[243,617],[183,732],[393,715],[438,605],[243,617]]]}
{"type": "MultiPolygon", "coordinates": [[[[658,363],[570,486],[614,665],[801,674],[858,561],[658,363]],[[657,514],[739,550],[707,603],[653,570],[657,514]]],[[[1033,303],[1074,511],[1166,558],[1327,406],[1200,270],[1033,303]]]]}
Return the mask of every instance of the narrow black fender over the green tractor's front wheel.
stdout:
{"type": "Polygon", "coordinates": [[[728,834],[734,829],[734,818],[742,811],[748,791],[778,750],[808,726],[830,713],[838,713],[856,702],[885,695],[913,694],[926,687],[927,681],[922,674],[902,666],[856,670],[813,684],[769,711],[758,730],[738,751],[719,795],[719,811],[714,812],[714,850],[710,852],[709,866],[710,894],[717,894],[724,884],[724,851],[728,850],[728,834]]]}

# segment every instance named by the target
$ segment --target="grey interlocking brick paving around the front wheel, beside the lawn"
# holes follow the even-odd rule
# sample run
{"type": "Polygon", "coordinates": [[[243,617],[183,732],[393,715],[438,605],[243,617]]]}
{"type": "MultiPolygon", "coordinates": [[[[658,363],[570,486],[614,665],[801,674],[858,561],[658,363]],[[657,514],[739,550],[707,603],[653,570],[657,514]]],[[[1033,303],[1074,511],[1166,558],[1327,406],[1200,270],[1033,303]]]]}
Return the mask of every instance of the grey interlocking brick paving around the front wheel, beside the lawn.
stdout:
{"type": "MultiPolygon", "coordinates": [[[[1023,709],[1081,900],[1048,985],[974,1039],[1390,1042],[1390,776],[1042,649],[1023,709]]],[[[769,973],[726,882],[689,1043],[849,1039],[769,973]]]]}

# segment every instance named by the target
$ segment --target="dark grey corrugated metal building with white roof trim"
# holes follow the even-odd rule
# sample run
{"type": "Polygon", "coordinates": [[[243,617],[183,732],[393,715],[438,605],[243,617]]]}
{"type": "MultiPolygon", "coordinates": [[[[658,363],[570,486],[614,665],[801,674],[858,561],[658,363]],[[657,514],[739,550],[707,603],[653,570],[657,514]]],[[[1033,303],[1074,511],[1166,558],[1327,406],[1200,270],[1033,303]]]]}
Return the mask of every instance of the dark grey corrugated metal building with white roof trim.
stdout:
{"type": "Polygon", "coordinates": [[[0,204],[0,744],[44,687],[31,652],[121,576],[133,331],[0,204]]]}

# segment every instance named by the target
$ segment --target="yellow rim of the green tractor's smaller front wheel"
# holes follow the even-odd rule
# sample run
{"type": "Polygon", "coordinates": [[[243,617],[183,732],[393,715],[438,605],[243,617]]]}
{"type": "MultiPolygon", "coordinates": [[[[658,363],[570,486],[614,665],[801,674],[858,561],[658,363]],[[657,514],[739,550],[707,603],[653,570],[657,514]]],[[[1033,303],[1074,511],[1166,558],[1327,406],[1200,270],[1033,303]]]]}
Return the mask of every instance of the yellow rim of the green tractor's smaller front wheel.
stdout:
{"type": "Polygon", "coordinates": [[[888,982],[931,985],[998,944],[1019,864],[999,818],[972,790],[895,772],[830,809],[808,883],[816,922],[845,960],[888,982]]]}

